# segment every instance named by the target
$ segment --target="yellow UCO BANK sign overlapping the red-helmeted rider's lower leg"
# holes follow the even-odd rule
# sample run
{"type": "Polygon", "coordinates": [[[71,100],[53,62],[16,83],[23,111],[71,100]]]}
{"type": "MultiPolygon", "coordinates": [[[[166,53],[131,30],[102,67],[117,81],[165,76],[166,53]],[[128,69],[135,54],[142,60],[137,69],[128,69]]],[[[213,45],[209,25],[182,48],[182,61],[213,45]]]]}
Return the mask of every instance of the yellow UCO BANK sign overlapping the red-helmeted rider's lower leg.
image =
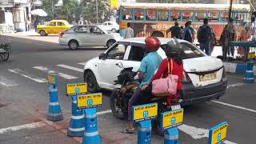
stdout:
{"type": "Polygon", "coordinates": [[[158,103],[133,106],[133,119],[135,122],[152,119],[158,116],[158,103]]]}

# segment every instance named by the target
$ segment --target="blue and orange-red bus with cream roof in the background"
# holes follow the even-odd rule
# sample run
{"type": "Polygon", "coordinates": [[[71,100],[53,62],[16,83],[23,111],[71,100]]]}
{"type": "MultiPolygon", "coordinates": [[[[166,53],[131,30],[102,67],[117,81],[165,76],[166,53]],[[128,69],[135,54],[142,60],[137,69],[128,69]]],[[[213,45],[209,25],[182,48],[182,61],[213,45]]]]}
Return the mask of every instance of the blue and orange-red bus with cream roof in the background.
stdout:
{"type": "MultiPolygon", "coordinates": [[[[203,19],[209,18],[209,25],[219,39],[229,18],[228,4],[192,4],[192,3],[138,3],[122,2],[118,10],[120,34],[123,36],[130,22],[135,37],[148,37],[153,32],[170,37],[166,30],[178,21],[179,26],[191,21],[195,31],[202,26],[203,19]]],[[[234,4],[231,18],[234,18],[239,32],[246,22],[250,22],[250,5],[234,4]]]]}

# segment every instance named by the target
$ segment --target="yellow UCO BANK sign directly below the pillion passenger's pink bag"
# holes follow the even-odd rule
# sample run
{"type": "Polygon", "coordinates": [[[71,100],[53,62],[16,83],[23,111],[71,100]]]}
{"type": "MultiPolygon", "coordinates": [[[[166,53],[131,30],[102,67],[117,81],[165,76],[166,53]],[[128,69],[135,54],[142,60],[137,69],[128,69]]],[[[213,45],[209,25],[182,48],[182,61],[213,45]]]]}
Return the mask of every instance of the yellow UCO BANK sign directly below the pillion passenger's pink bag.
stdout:
{"type": "Polygon", "coordinates": [[[183,109],[171,110],[161,114],[161,127],[169,129],[174,126],[180,126],[183,122],[183,109]]]}

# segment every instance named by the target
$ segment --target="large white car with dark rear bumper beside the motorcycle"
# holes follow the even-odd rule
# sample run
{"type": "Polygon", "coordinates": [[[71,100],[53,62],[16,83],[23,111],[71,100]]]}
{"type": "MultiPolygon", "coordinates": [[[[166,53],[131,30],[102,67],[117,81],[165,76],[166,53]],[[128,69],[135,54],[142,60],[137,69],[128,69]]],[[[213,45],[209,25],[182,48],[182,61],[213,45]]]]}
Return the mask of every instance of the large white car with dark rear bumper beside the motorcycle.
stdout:
{"type": "MultiPolygon", "coordinates": [[[[84,80],[88,90],[100,88],[113,90],[114,80],[122,70],[117,66],[122,62],[124,67],[133,67],[137,71],[145,54],[145,38],[128,38],[116,42],[105,53],[92,58],[84,67],[84,80]]],[[[170,38],[159,38],[161,48],[158,54],[166,58],[164,48],[170,38]]],[[[204,54],[196,46],[184,40],[178,40],[185,52],[183,58],[184,77],[182,78],[183,105],[194,102],[205,102],[221,97],[226,90],[227,78],[223,63],[218,58],[204,54]]]]}

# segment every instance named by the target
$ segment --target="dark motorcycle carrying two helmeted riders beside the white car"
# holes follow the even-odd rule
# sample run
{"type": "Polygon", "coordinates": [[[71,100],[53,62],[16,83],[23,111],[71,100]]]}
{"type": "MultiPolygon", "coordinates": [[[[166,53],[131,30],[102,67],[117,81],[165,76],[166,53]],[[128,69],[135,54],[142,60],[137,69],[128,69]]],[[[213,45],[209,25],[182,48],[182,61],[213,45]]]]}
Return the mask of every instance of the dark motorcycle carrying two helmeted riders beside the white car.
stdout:
{"type": "MultiPolygon", "coordinates": [[[[128,116],[128,102],[135,91],[138,89],[140,81],[138,78],[134,78],[137,72],[132,71],[133,67],[124,68],[122,63],[118,63],[117,66],[122,68],[120,74],[118,75],[118,80],[114,81],[114,85],[117,86],[110,95],[110,109],[114,114],[114,117],[119,119],[125,119],[128,116]]],[[[180,107],[179,102],[172,102],[174,106],[167,106],[165,97],[151,97],[150,102],[158,103],[158,118],[154,119],[154,124],[156,125],[156,130],[159,135],[163,135],[164,131],[160,126],[160,114],[165,111],[169,111],[172,108],[177,109],[180,107]],[[176,104],[174,104],[176,103],[176,104]],[[178,104],[178,105],[177,105],[178,104]]]]}

